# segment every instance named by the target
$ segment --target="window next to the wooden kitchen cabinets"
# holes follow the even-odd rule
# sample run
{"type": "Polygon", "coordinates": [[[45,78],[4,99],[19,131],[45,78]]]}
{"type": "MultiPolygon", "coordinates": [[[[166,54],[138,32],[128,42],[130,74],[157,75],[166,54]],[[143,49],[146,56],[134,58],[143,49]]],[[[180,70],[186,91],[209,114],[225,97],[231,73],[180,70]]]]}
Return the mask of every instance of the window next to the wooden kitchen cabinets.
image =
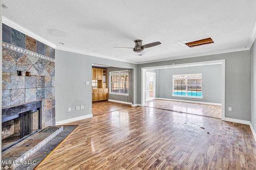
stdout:
{"type": "Polygon", "coordinates": [[[128,70],[110,72],[110,93],[128,95],[129,76],[128,70]]]}

